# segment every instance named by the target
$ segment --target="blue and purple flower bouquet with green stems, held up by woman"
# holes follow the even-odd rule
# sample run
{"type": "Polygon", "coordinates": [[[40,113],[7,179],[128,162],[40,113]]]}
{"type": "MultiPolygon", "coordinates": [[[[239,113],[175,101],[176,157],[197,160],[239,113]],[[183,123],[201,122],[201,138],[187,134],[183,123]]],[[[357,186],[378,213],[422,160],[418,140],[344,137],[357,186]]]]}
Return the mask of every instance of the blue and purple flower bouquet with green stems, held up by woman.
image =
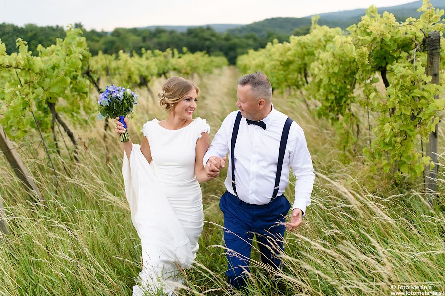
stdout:
{"type": "MultiPolygon", "coordinates": [[[[119,122],[127,128],[124,122],[124,117],[133,113],[133,107],[137,104],[139,95],[136,95],[128,88],[116,87],[114,85],[108,86],[107,89],[99,95],[99,116],[98,118],[116,118],[119,117],[119,122]]],[[[127,131],[119,135],[121,142],[127,142],[127,131]]]]}

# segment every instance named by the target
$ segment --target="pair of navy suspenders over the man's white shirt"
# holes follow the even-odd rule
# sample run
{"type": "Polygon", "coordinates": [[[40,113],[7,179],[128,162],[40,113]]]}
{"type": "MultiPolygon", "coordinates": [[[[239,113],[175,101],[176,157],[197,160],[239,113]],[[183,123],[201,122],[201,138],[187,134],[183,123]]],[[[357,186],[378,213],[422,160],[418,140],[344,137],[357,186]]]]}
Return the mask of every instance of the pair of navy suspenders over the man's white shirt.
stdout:
{"type": "MultiPolygon", "coordinates": [[[[230,162],[232,167],[232,188],[236,196],[238,196],[238,193],[236,192],[236,184],[235,184],[235,144],[236,144],[236,138],[238,137],[239,123],[241,122],[241,117],[242,117],[241,112],[238,112],[238,114],[236,115],[235,124],[233,125],[232,143],[231,143],[232,150],[230,152],[231,154],[230,162]]],[[[283,132],[281,133],[280,149],[278,153],[278,167],[276,169],[275,187],[273,188],[272,200],[275,199],[276,195],[278,194],[280,179],[281,179],[281,171],[283,169],[284,154],[286,152],[287,138],[289,137],[289,130],[291,124],[292,124],[292,119],[287,117],[286,122],[284,123],[283,132]]]]}

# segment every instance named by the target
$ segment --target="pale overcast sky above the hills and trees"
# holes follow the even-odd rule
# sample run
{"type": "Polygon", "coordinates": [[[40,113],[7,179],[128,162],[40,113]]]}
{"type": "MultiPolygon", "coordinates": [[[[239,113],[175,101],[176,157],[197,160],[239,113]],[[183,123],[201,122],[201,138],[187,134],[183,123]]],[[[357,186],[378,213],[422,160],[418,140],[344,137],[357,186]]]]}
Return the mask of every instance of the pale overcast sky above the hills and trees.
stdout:
{"type": "Polygon", "coordinates": [[[271,17],[394,6],[412,0],[0,0],[0,23],[61,25],[88,30],[150,25],[249,24],[271,17]]]}

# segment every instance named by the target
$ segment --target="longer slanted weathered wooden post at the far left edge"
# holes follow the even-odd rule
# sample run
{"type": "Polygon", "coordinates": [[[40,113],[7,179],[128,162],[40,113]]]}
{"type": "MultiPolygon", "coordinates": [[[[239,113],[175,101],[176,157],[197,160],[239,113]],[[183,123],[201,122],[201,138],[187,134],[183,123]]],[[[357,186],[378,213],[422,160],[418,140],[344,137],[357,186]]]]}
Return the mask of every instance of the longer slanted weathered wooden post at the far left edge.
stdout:
{"type": "Polygon", "coordinates": [[[12,147],[11,142],[6,136],[6,133],[3,130],[1,124],[0,124],[0,149],[6,156],[6,159],[11,165],[14,173],[30,190],[31,195],[33,197],[37,196],[38,199],[41,199],[42,196],[40,194],[39,188],[37,188],[36,184],[34,183],[34,180],[31,178],[31,175],[28,172],[28,169],[23,164],[20,155],[18,155],[18,153],[15,151],[15,148],[12,147]]]}

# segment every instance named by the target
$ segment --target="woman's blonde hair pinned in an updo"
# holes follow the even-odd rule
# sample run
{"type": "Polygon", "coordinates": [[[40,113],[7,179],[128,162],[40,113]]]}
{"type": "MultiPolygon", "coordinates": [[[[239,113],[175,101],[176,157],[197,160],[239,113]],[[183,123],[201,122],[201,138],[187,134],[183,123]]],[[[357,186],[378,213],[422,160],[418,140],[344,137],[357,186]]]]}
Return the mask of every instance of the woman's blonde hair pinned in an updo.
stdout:
{"type": "Polygon", "coordinates": [[[195,89],[196,94],[199,94],[199,88],[193,81],[182,77],[172,77],[168,79],[164,82],[161,91],[158,93],[159,106],[171,112],[176,104],[185,99],[192,89],[195,89]]]}

